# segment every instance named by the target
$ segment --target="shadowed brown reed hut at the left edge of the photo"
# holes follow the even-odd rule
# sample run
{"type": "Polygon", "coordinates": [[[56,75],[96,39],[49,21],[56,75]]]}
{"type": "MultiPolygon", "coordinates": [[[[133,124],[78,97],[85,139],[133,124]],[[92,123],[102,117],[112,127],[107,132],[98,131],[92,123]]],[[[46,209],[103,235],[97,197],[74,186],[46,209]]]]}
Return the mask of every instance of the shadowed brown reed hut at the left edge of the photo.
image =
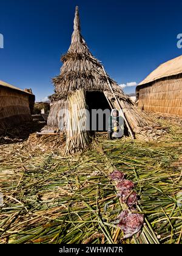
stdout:
{"type": "Polygon", "coordinates": [[[31,89],[21,90],[0,80],[0,133],[31,121],[34,102],[31,89]]]}

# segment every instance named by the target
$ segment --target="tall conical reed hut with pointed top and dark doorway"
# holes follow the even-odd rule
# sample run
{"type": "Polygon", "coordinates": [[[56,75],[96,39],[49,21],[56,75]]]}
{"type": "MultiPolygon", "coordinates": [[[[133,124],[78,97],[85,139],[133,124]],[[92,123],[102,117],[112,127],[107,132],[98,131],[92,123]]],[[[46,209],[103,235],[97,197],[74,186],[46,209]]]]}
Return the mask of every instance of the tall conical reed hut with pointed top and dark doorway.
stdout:
{"type": "Polygon", "coordinates": [[[90,142],[93,131],[85,126],[88,119],[86,110],[117,108],[122,112],[132,138],[140,134],[141,127],[153,125],[149,116],[123,93],[89,51],[81,35],[78,7],[70,48],[67,54],[62,55],[61,61],[60,74],[53,78],[55,93],[49,97],[51,104],[47,124],[50,130],[59,128],[66,134],[66,153],[84,149],[90,142]],[[60,114],[62,109],[69,115],[60,114]]]}

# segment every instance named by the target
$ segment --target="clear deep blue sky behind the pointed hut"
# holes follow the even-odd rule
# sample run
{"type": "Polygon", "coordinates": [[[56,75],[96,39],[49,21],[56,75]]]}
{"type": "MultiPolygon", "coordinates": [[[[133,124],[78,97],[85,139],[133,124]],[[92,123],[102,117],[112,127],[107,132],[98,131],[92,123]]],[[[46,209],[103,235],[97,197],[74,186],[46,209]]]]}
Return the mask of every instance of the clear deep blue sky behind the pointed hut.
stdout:
{"type": "Polygon", "coordinates": [[[51,79],[70,46],[75,5],[90,51],[119,84],[138,83],[182,54],[182,0],[2,0],[0,80],[32,88],[37,101],[52,94],[51,79]]]}

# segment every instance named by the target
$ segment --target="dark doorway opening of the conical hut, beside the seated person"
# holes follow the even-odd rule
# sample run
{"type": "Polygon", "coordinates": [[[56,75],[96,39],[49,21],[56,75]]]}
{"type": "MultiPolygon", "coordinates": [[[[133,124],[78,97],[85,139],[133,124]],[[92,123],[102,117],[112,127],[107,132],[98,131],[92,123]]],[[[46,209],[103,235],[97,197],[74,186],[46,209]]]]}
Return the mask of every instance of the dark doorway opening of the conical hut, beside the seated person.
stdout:
{"type": "Polygon", "coordinates": [[[90,113],[90,130],[92,130],[93,132],[106,132],[108,130],[108,116],[103,115],[103,129],[99,129],[100,127],[98,126],[99,124],[99,116],[96,116],[96,129],[93,129],[93,116],[92,116],[92,110],[109,110],[109,112],[111,113],[111,108],[109,103],[107,102],[107,99],[104,95],[103,92],[99,92],[99,91],[89,91],[86,92],[86,104],[87,104],[87,108],[89,110],[90,113]]]}

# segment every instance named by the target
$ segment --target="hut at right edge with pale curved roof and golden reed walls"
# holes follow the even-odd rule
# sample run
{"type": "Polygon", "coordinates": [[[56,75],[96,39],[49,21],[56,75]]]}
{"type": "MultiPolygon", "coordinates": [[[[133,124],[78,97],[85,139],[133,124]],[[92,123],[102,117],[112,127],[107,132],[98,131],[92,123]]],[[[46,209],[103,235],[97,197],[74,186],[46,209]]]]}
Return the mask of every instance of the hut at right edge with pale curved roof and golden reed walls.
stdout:
{"type": "Polygon", "coordinates": [[[158,66],[136,87],[140,108],[182,116],[182,55],[158,66]]]}

